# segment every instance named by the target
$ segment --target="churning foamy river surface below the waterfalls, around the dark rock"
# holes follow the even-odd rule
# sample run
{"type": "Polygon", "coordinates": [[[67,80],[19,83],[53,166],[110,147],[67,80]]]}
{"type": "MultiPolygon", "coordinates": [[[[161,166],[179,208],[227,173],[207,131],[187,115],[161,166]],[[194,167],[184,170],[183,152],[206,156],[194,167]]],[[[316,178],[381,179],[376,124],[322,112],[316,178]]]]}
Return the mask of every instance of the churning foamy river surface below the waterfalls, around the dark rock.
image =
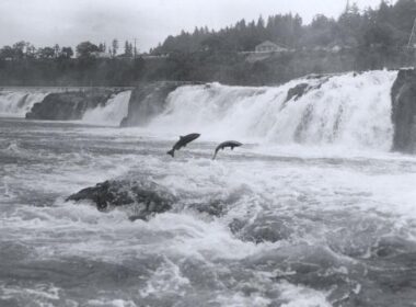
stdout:
{"type": "Polygon", "coordinates": [[[171,143],[131,130],[20,120],[0,120],[0,306],[414,302],[414,157],[242,147],[212,161],[215,145],[198,139],[172,159],[171,143]],[[154,181],[178,201],[134,223],[63,202],[113,178],[154,181]],[[216,200],[221,216],[193,209],[216,200]],[[233,220],[244,227],[231,231],[233,220]]]}

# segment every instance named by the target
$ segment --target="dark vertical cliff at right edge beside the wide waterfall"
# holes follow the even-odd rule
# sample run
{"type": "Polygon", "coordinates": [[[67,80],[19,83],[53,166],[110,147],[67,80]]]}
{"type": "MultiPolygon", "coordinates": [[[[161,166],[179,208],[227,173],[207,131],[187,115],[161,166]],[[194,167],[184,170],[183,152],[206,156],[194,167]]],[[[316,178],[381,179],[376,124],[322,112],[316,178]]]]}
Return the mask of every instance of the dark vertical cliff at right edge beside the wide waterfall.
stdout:
{"type": "Polygon", "coordinates": [[[393,150],[416,152],[416,70],[403,69],[392,87],[393,150]]]}

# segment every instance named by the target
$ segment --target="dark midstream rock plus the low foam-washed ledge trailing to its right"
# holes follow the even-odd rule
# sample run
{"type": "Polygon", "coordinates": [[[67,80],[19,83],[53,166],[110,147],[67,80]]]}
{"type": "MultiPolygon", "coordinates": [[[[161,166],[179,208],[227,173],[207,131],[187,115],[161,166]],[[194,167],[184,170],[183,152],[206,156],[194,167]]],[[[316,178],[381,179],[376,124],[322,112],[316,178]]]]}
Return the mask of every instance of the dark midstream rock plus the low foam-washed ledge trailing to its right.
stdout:
{"type": "MultiPolygon", "coordinates": [[[[177,191],[176,191],[177,192],[177,191]]],[[[228,206],[238,202],[238,195],[226,197],[195,197],[194,193],[171,193],[166,187],[148,179],[135,180],[132,177],[107,180],[95,186],[83,189],[66,201],[88,203],[101,212],[119,208],[127,213],[130,220],[148,220],[155,214],[167,211],[190,211],[198,214],[220,217],[228,206]]]]}

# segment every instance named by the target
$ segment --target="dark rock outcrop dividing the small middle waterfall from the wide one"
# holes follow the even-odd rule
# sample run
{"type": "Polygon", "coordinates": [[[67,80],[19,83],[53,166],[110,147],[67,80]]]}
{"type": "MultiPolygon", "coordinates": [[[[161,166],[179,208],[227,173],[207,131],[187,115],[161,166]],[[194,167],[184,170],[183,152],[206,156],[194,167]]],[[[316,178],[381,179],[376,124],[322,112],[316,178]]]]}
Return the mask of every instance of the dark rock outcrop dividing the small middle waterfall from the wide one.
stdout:
{"type": "Polygon", "coordinates": [[[131,91],[128,115],[122,127],[143,126],[162,113],[167,95],[176,88],[196,82],[162,81],[140,84],[131,91]]]}

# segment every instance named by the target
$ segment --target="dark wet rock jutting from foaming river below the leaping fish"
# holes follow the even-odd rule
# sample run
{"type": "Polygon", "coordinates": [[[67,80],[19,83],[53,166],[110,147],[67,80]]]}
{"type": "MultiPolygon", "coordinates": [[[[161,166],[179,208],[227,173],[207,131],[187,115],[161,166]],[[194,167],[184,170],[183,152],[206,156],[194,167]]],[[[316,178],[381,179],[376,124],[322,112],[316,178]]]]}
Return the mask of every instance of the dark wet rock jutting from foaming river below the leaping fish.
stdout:
{"type": "Polygon", "coordinates": [[[67,201],[89,200],[99,211],[130,207],[130,219],[147,219],[150,215],[172,208],[175,197],[151,181],[112,180],[99,183],[72,194],[67,201]]]}

